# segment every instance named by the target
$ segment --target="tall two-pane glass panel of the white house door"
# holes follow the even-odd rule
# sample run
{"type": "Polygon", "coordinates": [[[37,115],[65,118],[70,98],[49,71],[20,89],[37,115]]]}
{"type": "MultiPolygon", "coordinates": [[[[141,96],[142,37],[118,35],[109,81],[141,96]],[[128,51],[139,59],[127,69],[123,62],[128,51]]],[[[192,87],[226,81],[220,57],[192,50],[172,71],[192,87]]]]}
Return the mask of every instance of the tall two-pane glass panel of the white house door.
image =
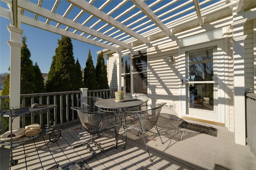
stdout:
{"type": "Polygon", "coordinates": [[[218,118],[218,83],[214,51],[216,47],[188,51],[186,70],[187,114],[210,119],[218,118]]]}

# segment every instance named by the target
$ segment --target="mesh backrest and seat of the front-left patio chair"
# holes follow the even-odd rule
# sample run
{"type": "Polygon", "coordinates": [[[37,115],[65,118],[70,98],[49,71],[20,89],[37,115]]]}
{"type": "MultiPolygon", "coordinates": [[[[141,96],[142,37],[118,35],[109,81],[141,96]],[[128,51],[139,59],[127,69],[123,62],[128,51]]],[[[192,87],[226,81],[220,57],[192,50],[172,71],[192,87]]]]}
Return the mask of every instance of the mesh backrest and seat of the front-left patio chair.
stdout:
{"type": "Polygon", "coordinates": [[[71,109],[77,111],[77,114],[82,123],[82,126],[91,135],[101,133],[114,126],[114,125],[111,125],[111,127],[105,126],[106,124],[103,123],[103,120],[106,115],[102,114],[101,111],[97,108],[71,107],[71,109]]]}

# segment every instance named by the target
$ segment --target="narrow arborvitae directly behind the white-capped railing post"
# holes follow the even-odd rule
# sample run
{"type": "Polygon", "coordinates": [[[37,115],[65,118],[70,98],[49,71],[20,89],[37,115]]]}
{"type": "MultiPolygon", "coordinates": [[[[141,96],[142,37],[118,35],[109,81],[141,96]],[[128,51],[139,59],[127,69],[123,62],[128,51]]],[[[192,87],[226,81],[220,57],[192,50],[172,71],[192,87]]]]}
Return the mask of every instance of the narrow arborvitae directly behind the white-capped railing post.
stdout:
{"type": "Polygon", "coordinates": [[[92,61],[91,51],[89,50],[86,66],[84,68],[84,86],[89,90],[98,89],[95,67],[92,61]]]}

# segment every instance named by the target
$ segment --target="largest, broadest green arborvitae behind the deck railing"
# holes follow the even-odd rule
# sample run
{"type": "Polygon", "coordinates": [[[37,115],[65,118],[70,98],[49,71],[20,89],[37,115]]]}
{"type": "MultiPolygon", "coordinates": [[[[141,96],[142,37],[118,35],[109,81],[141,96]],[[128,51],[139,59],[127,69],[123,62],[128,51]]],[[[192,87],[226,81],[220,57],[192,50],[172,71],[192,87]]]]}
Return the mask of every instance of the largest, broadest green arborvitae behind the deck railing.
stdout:
{"type": "Polygon", "coordinates": [[[52,65],[46,81],[47,92],[74,91],[76,88],[75,59],[71,39],[62,36],[52,58],[52,65]]]}

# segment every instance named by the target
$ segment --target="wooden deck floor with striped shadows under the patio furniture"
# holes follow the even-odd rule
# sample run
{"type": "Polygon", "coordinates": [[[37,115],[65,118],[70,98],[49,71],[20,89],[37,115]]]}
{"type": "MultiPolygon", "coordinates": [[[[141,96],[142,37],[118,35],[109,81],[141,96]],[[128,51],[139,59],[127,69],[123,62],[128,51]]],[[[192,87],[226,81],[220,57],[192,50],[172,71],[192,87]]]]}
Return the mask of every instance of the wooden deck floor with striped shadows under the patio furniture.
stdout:
{"type": "MultiPolygon", "coordinates": [[[[163,115],[162,115],[163,116],[163,115]]],[[[168,116],[167,116],[168,117],[168,116]]],[[[143,169],[143,170],[255,170],[256,158],[248,146],[234,143],[234,133],[226,128],[218,129],[217,137],[192,130],[179,128],[181,119],[160,117],[158,128],[164,144],[161,144],[156,131],[146,133],[146,140],[153,162],[149,161],[142,139],[128,133],[126,149],[123,149],[125,135],[119,131],[118,148],[113,148],[87,162],[95,170],[143,169]]],[[[188,121],[192,122],[192,121],[188,121]]],[[[86,146],[72,148],[88,138],[80,124],[72,124],[61,129],[57,142],[50,142],[44,135],[34,142],[13,150],[13,158],[18,164],[12,170],[48,169],[57,163],[63,167],[70,162],[81,162],[91,154],[86,146]]],[[[114,144],[114,133],[109,132],[97,139],[97,144],[107,148],[114,144]]],[[[91,146],[94,150],[94,146],[91,146]]],[[[85,165],[87,165],[85,164],[85,165]]]]}

